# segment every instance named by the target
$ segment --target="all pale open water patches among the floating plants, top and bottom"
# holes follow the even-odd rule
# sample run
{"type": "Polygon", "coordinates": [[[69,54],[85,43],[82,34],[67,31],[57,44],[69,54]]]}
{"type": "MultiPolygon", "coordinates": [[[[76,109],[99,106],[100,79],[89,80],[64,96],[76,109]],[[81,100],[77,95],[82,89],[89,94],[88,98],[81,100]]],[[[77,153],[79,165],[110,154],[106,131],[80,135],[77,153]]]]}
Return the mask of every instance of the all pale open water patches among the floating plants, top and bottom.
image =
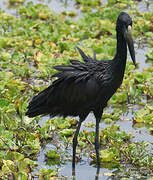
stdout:
{"type": "MultiPolygon", "coordinates": [[[[27,0],[25,2],[28,3],[29,0],[27,0]]],[[[80,18],[83,16],[83,14],[81,13],[81,11],[79,9],[75,8],[75,1],[74,0],[52,0],[52,1],[48,1],[48,0],[44,0],[44,1],[39,1],[39,0],[34,0],[33,1],[35,4],[36,3],[42,3],[42,4],[46,4],[48,5],[52,11],[55,11],[56,13],[60,13],[62,11],[66,11],[66,12],[70,12],[70,11],[75,11],[77,12],[78,16],[77,18],[80,18]]],[[[103,3],[107,3],[107,1],[103,1],[103,3]]],[[[8,7],[8,3],[6,0],[1,0],[0,1],[0,7],[1,9],[5,10],[6,13],[12,14],[14,16],[17,16],[17,11],[15,8],[9,8],[8,7]]],[[[138,4],[138,9],[140,12],[144,12],[144,11],[151,11],[153,7],[153,3],[151,4],[151,6],[149,6],[149,8],[147,8],[147,4],[145,1],[142,1],[138,4]]],[[[139,70],[142,71],[143,69],[151,66],[151,63],[146,63],[146,54],[148,53],[148,47],[147,45],[144,46],[143,48],[139,48],[136,45],[136,59],[137,62],[139,62],[139,70]]],[[[130,59],[130,57],[128,57],[128,59],[130,59]]],[[[118,121],[116,124],[120,125],[120,129],[122,131],[126,131],[126,132],[130,132],[132,134],[135,135],[135,137],[132,139],[133,141],[148,141],[148,142],[152,142],[152,136],[148,134],[148,129],[145,128],[144,126],[142,126],[141,128],[135,128],[133,127],[133,123],[132,121],[130,121],[132,119],[133,116],[133,110],[136,110],[137,106],[133,107],[129,107],[128,111],[123,114],[123,119],[127,119],[126,121],[118,121]],[[128,120],[130,119],[130,120],[128,120]]],[[[49,117],[43,117],[42,121],[40,122],[40,125],[43,124],[47,119],[49,119],[49,117]]],[[[89,114],[89,116],[86,119],[86,122],[95,122],[95,118],[93,116],[93,114],[89,114]]],[[[105,128],[108,125],[106,125],[105,123],[101,122],[100,123],[100,128],[105,128]]],[[[82,126],[81,130],[83,129],[88,129],[88,130],[94,130],[93,128],[86,128],[85,126],[82,126]]],[[[54,149],[55,147],[52,144],[47,144],[45,150],[41,150],[40,151],[40,155],[38,157],[38,161],[37,163],[39,164],[39,166],[37,167],[37,169],[35,169],[34,172],[37,172],[38,169],[42,168],[42,167],[46,167],[46,168],[52,168],[48,165],[46,165],[45,162],[45,152],[46,150],[50,150],[50,149],[54,149]]],[[[68,150],[69,156],[72,155],[72,149],[70,148],[68,150]]],[[[71,161],[67,162],[66,164],[58,167],[59,168],[59,176],[64,176],[64,177],[68,177],[68,179],[71,179],[71,161]]],[[[76,164],[76,180],[84,180],[84,179],[88,179],[88,180],[93,180],[95,179],[96,176],[96,171],[97,169],[93,166],[90,165],[90,161],[88,159],[88,156],[83,156],[81,162],[76,164]]],[[[99,179],[108,179],[107,176],[104,176],[105,173],[111,173],[114,172],[115,169],[108,170],[107,168],[101,168],[100,169],[100,177],[99,179]]]]}

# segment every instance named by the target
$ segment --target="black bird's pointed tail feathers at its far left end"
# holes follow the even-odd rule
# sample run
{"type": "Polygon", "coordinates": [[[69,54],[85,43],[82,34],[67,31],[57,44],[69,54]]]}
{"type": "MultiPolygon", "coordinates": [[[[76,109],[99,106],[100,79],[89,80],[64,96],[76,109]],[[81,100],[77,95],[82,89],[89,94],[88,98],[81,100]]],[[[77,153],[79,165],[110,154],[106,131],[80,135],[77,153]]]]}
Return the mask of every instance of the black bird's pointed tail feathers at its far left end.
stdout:
{"type": "Polygon", "coordinates": [[[47,106],[49,88],[50,87],[39,93],[30,101],[28,111],[26,112],[28,117],[35,117],[41,114],[45,115],[49,113],[49,107],[47,106]]]}

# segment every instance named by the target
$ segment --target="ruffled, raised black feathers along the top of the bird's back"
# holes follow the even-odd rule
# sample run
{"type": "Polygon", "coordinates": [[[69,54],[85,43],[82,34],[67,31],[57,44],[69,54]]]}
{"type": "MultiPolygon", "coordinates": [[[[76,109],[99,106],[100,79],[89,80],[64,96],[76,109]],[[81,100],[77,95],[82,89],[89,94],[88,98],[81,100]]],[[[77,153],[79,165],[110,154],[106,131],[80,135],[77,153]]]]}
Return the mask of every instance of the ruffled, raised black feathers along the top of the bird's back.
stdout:
{"type": "Polygon", "coordinates": [[[59,72],[55,73],[52,77],[57,77],[58,80],[54,83],[64,79],[65,81],[73,79],[75,83],[85,83],[89,79],[102,80],[103,75],[106,72],[105,62],[97,61],[96,55],[94,57],[87,56],[79,47],[77,47],[81,54],[84,63],[78,60],[70,60],[71,65],[57,65],[54,69],[59,72]]]}

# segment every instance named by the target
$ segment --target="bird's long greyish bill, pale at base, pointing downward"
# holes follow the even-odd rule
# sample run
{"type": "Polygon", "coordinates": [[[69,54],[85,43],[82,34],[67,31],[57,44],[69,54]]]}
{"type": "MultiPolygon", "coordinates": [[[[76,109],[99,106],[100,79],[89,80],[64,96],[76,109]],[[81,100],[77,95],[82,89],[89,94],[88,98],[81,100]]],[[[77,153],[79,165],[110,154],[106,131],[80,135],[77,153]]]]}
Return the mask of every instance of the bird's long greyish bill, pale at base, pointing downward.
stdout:
{"type": "Polygon", "coordinates": [[[132,27],[130,25],[125,30],[124,37],[125,37],[125,40],[127,42],[132,61],[133,61],[134,65],[136,66],[134,43],[133,43],[133,38],[132,38],[132,27]]]}

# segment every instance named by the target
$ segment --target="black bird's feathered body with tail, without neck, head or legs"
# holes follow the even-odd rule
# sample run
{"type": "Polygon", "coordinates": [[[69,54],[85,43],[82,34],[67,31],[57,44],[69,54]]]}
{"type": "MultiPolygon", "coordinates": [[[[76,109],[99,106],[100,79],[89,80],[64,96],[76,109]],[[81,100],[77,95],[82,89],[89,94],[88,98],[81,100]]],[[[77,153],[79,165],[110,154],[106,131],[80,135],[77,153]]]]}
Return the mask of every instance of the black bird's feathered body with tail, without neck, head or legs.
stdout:
{"type": "Polygon", "coordinates": [[[116,60],[98,61],[79,49],[85,63],[71,60],[72,65],[55,66],[61,71],[51,86],[29,104],[29,117],[40,114],[82,116],[106,107],[123,80],[123,66],[116,60]]]}

